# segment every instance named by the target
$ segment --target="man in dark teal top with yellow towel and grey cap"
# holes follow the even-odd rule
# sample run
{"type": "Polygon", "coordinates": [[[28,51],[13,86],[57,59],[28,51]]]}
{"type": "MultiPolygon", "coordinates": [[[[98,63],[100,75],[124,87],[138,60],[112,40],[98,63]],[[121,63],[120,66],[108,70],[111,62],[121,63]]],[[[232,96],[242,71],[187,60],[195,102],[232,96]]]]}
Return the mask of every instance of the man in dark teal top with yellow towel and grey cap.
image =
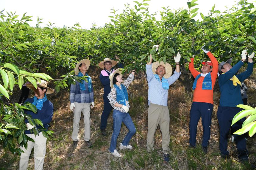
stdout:
{"type": "MultiPolygon", "coordinates": [[[[220,73],[218,83],[221,96],[217,117],[220,129],[219,149],[222,158],[230,157],[229,151],[227,150],[227,139],[230,128],[232,128],[233,131],[237,131],[242,127],[243,121],[245,120],[245,118],[242,118],[231,127],[232,119],[234,116],[243,110],[239,107],[236,107],[238,104],[243,104],[240,92],[241,82],[243,82],[252,74],[252,58],[254,57],[254,53],[249,55],[246,71],[235,75],[243,66],[243,63],[246,60],[246,54],[246,50],[243,50],[241,61],[236,63],[233,67],[230,65],[232,62],[231,60],[227,60],[226,62],[222,61],[218,66],[218,71],[220,73]]],[[[234,135],[234,137],[239,152],[238,158],[241,161],[248,161],[249,153],[246,149],[245,137],[243,135],[234,135]]]]}

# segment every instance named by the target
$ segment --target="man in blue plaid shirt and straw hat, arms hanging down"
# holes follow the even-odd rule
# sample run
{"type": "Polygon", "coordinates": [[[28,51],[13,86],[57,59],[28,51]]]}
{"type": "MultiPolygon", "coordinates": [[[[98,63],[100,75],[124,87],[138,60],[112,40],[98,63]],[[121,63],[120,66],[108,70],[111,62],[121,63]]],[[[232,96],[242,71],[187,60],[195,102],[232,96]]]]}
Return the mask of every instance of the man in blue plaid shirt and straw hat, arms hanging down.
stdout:
{"type": "Polygon", "coordinates": [[[76,84],[71,84],[70,87],[70,109],[74,112],[73,121],[73,147],[77,147],[78,143],[78,131],[81,112],[84,114],[85,132],[84,140],[88,147],[92,146],[90,142],[90,108],[94,107],[93,100],[93,84],[91,77],[86,73],[90,66],[90,60],[81,60],[75,67],[76,76],[83,77],[86,76],[86,80],[82,82],[76,81],[76,84]],[[91,105],[91,106],[90,106],[91,105]]]}

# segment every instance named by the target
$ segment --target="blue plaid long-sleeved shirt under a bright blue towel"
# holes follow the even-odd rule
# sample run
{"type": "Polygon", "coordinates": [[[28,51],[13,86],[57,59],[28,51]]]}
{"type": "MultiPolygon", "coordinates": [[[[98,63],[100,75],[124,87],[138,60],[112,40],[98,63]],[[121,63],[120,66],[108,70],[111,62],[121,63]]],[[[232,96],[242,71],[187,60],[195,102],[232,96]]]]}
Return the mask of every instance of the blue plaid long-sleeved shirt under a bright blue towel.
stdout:
{"type": "Polygon", "coordinates": [[[88,82],[85,81],[85,90],[80,90],[79,82],[76,81],[76,84],[71,84],[70,87],[70,103],[91,103],[94,102],[93,99],[93,84],[91,92],[88,90],[88,82]]]}

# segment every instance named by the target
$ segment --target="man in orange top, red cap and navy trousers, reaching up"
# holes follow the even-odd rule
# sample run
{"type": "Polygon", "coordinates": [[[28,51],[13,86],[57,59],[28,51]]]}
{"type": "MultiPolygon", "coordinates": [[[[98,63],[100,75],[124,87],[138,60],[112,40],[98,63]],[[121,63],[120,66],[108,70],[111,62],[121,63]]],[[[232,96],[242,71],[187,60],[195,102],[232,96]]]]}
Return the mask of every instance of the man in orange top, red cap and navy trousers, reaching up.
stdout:
{"type": "MultiPolygon", "coordinates": [[[[196,147],[196,131],[200,117],[202,117],[203,140],[202,150],[206,154],[210,140],[211,121],[213,113],[213,87],[218,73],[218,61],[210,51],[202,50],[209,56],[210,61],[202,62],[202,73],[194,68],[194,58],[191,58],[188,69],[195,78],[193,83],[193,103],[190,109],[189,143],[190,147],[196,147]]],[[[194,57],[194,56],[193,56],[194,57]]]]}

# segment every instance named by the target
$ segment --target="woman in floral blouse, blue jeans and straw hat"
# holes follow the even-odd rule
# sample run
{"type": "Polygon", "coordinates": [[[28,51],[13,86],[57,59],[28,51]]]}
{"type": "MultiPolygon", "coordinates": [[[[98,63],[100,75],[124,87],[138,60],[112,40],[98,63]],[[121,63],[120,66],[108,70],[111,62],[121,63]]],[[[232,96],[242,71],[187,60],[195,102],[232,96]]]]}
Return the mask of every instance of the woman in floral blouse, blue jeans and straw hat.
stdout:
{"type": "Polygon", "coordinates": [[[132,149],[132,146],[129,145],[129,141],[131,140],[132,136],[135,134],[136,129],[132,122],[132,118],[130,117],[129,111],[129,101],[128,101],[128,93],[127,88],[132,82],[134,78],[135,71],[133,70],[132,73],[129,75],[127,80],[122,79],[121,68],[118,68],[110,74],[110,87],[112,88],[110,93],[108,94],[107,98],[109,99],[110,105],[114,108],[113,110],[113,124],[114,124],[114,131],[112,134],[110,148],[109,151],[116,157],[121,157],[121,155],[115,149],[117,137],[119,136],[122,122],[126,125],[129,132],[124,137],[122,143],[120,143],[119,148],[121,149],[132,149]]]}

